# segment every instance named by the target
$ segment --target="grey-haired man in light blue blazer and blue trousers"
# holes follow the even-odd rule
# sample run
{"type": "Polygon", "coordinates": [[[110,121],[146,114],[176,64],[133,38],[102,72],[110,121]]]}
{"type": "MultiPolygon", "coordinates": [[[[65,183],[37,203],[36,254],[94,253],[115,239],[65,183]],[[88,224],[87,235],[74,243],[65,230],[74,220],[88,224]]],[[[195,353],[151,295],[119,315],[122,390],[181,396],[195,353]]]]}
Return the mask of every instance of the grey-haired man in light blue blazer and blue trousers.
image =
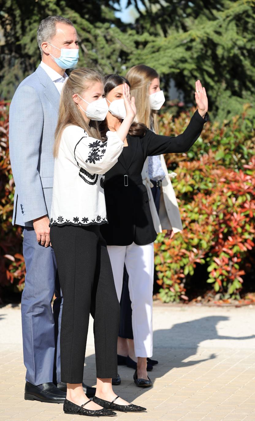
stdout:
{"type": "Polygon", "coordinates": [[[41,21],[37,41],[42,61],[21,82],[10,106],[9,146],[16,185],[13,224],[23,227],[27,270],[21,298],[25,399],[61,403],[66,396],[60,376],[62,296],[50,247],[49,214],[60,93],[68,77],[65,69],[77,63],[79,50],[72,22],[61,16],[41,21]]]}

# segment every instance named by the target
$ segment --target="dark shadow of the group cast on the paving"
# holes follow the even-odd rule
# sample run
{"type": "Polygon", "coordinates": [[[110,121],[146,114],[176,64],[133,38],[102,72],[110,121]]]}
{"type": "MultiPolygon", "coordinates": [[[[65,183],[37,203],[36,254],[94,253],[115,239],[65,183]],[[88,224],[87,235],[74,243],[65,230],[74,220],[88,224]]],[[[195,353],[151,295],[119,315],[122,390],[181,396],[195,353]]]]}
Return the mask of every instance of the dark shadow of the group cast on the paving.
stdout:
{"type": "MultiPolygon", "coordinates": [[[[255,335],[240,337],[219,335],[217,331],[218,323],[228,320],[229,318],[226,316],[208,316],[189,322],[176,323],[170,329],[154,331],[153,358],[158,359],[159,364],[154,366],[152,372],[148,373],[151,380],[153,381],[155,378],[164,376],[173,368],[189,367],[216,358],[216,355],[212,352],[208,358],[185,361],[192,355],[197,354],[199,344],[203,341],[213,339],[234,339],[240,341],[255,337],[255,335]]],[[[86,357],[85,364],[85,383],[91,384],[91,379],[93,378],[92,383],[96,384],[95,354],[86,357]]],[[[134,370],[124,366],[119,366],[118,370],[122,383],[120,386],[114,386],[115,393],[120,394],[123,398],[126,396],[126,399],[131,402],[148,390],[147,388],[143,389],[135,386],[133,383],[134,370]]]]}

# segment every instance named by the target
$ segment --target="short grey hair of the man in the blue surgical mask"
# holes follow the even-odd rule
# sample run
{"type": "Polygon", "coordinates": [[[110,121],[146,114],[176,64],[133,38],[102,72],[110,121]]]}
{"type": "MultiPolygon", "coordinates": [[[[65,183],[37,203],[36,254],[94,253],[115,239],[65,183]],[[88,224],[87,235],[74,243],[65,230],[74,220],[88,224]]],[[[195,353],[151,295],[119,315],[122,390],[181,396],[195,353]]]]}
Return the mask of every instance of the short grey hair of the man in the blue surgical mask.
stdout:
{"type": "Polygon", "coordinates": [[[41,56],[43,57],[42,43],[44,41],[50,41],[54,35],[56,35],[56,23],[74,26],[73,23],[63,16],[48,16],[40,22],[39,28],[37,29],[37,43],[40,48],[41,56]]]}

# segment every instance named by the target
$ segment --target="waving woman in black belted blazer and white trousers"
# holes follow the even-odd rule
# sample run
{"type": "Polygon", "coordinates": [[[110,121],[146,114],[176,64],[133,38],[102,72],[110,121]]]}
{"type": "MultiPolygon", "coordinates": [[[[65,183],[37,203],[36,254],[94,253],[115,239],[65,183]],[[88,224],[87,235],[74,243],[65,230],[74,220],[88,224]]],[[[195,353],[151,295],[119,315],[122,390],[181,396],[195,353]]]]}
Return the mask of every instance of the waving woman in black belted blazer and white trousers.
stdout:
{"type": "MultiPolygon", "coordinates": [[[[106,76],[105,98],[109,102],[101,136],[116,131],[125,117],[122,85],[128,81],[118,75],[106,76]]],[[[187,152],[198,139],[208,120],[205,88],[196,82],[197,111],[179,136],[159,136],[140,123],[133,123],[118,162],[106,173],[104,193],[108,224],[101,226],[112,264],[114,283],[120,300],[124,263],[129,275],[135,355],[138,357],[135,384],[151,386],[147,376],[147,357],[152,355],[152,288],[154,274],[154,229],[149,197],[141,171],[148,156],[187,152]]]]}

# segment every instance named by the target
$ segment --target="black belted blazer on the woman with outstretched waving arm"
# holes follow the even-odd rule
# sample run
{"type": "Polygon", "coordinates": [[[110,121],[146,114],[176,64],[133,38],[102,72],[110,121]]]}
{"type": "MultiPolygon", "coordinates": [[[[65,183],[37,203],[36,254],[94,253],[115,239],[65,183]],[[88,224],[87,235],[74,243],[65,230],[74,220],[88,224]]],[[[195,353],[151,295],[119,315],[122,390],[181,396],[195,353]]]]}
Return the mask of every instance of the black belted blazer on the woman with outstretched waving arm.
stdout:
{"type": "Polygon", "coordinates": [[[157,237],[149,197],[141,172],[148,156],[169,152],[187,152],[199,137],[208,115],[198,111],[186,130],[179,136],[160,136],[147,129],[143,138],[127,136],[118,162],[106,173],[104,194],[108,224],[100,226],[107,245],[145,245],[157,237]]]}

